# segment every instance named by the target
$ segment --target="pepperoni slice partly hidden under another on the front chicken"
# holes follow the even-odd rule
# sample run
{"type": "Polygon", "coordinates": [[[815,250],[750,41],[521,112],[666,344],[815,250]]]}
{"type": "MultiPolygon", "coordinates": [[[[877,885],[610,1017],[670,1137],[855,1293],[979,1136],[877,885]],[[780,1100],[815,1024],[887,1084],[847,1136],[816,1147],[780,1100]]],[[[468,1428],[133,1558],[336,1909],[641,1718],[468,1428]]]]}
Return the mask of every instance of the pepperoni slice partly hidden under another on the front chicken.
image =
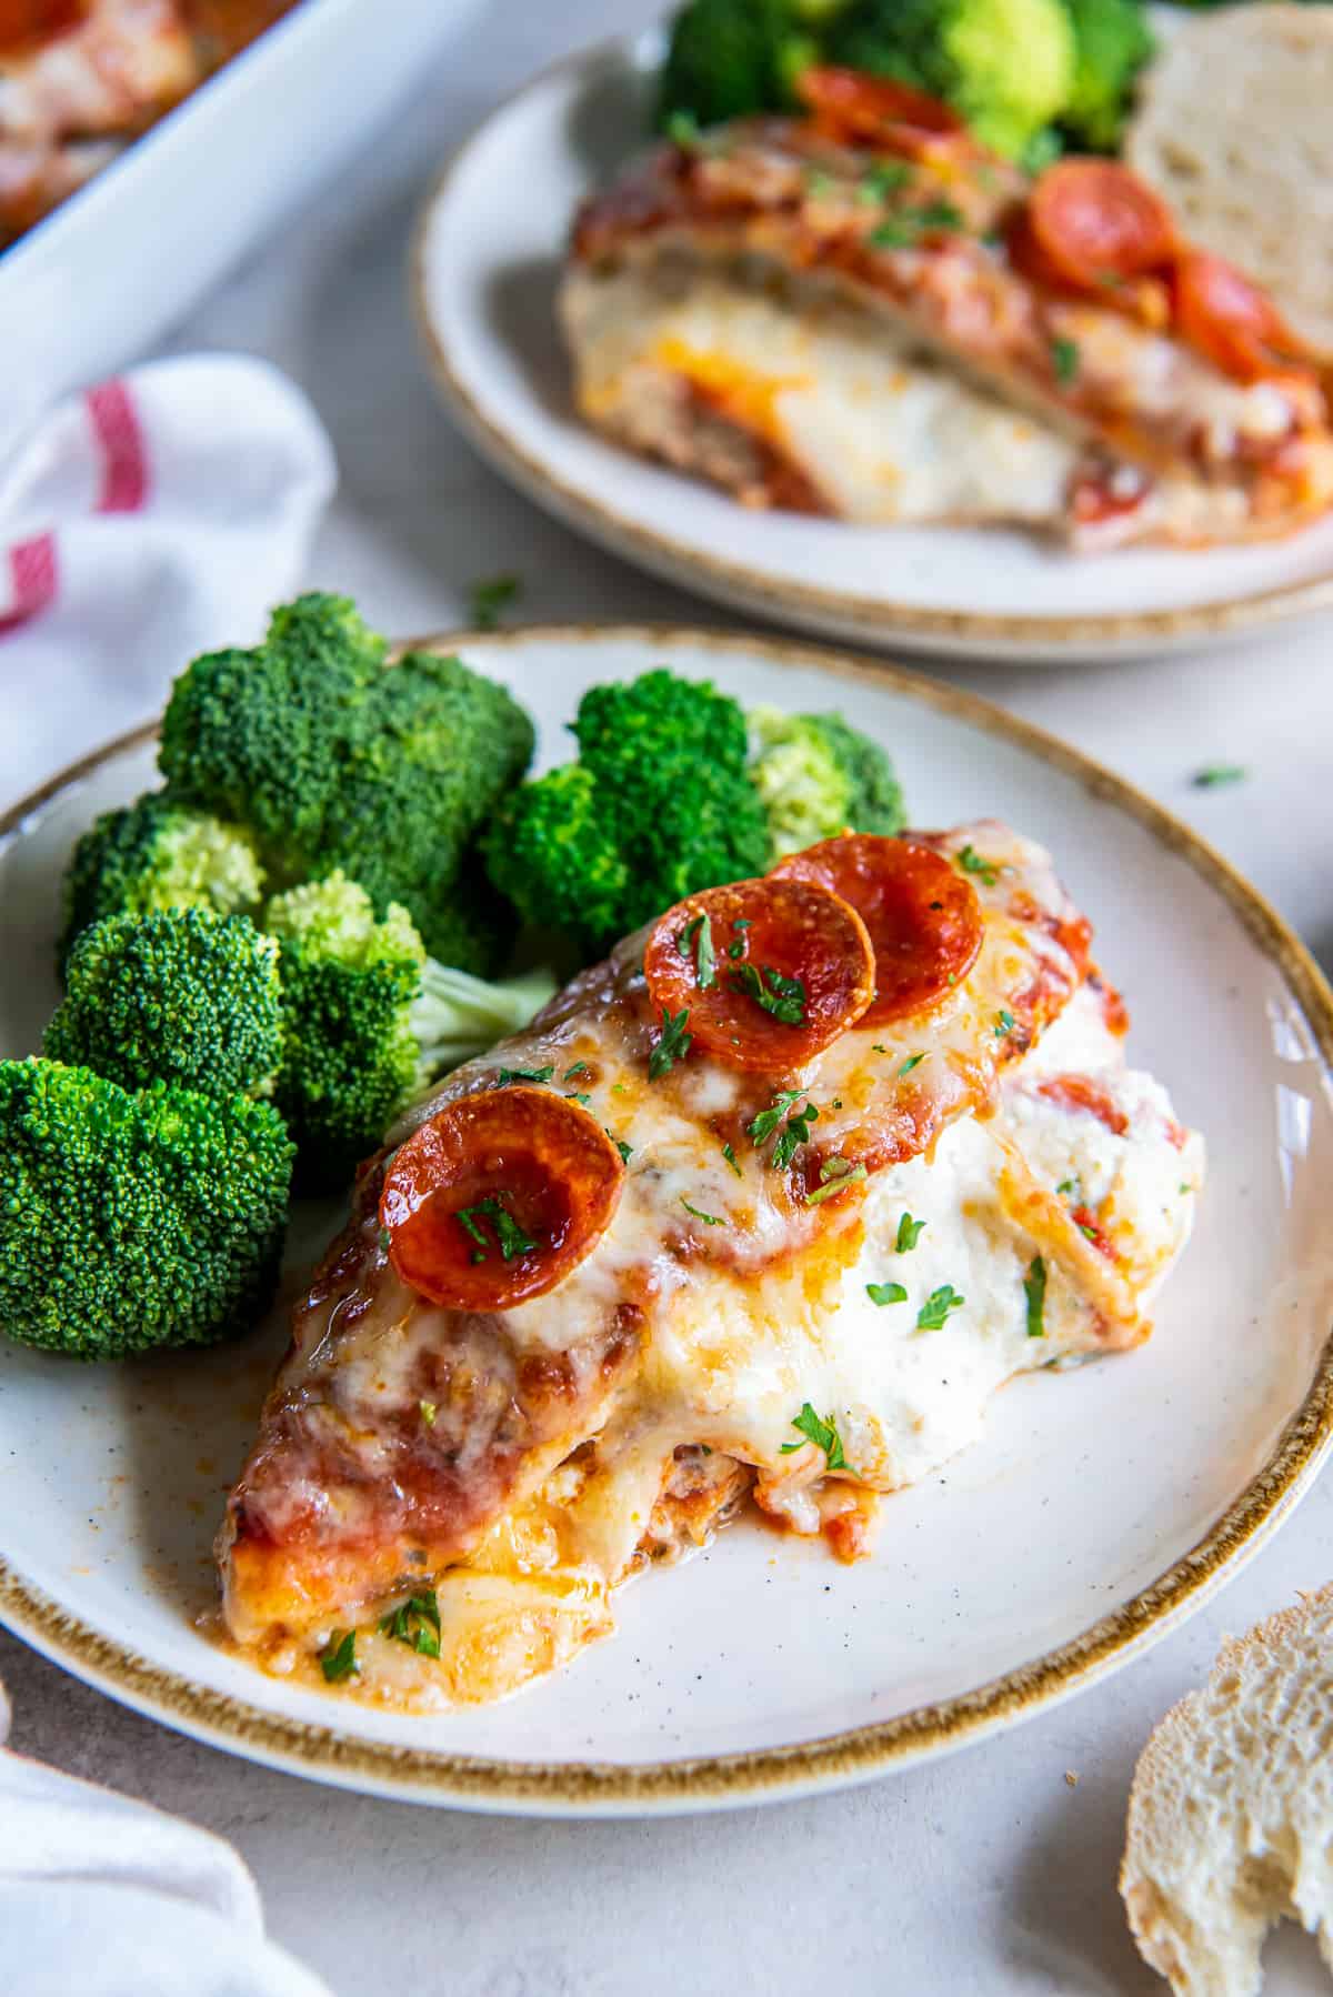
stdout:
{"type": "Polygon", "coordinates": [[[769,879],[817,881],[849,901],[875,951],[875,998],[863,1026],[935,1004],[981,949],[981,903],[939,853],[911,839],[845,833],[779,861],[769,879]]]}

